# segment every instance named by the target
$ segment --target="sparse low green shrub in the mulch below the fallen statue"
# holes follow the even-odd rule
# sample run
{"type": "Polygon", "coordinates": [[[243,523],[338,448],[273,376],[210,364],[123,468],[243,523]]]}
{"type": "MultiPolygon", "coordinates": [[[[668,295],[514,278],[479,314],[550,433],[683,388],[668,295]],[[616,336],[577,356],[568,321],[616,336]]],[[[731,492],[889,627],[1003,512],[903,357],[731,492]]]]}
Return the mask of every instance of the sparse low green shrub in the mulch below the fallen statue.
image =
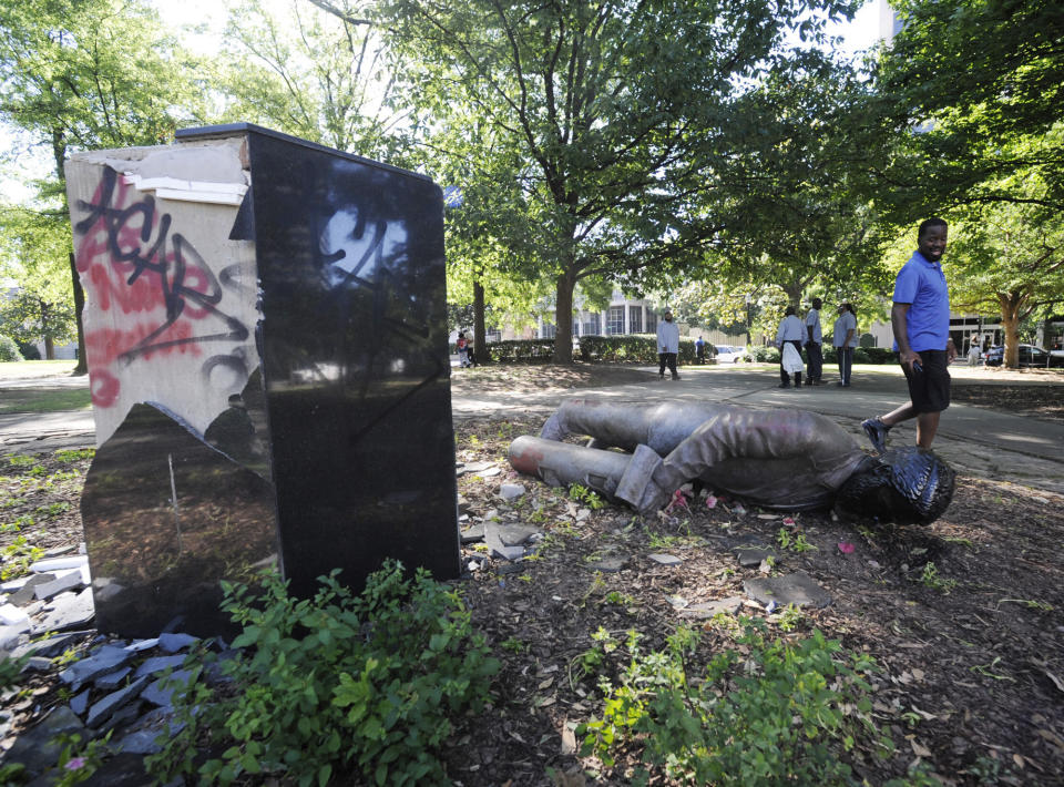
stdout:
{"type": "MultiPolygon", "coordinates": [[[[741,619],[743,647],[717,653],[704,679],[687,674],[697,645],[681,628],[665,652],[634,650],[615,688],[605,685],[603,718],[581,725],[583,755],[607,767],[622,744],[643,747],[643,762],[684,784],[759,787],[779,784],[850,784],[850,767],[835,749],[871,737],[887,754],[890,738],[870,720],[866,655],[840,658],[838,641],[820,632],[785,642],[766,640],[764,621],[741,619]]],[[[646,784],[641,767],[635,783],[646,784]]]]}

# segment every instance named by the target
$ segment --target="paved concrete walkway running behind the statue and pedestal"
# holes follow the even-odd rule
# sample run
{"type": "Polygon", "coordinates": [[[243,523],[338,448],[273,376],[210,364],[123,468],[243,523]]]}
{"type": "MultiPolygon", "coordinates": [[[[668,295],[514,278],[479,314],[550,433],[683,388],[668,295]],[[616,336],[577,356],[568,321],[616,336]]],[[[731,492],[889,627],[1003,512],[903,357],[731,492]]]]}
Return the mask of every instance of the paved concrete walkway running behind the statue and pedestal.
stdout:
{"type": "MultiPolygon", "coordinates": [[[[868,446],[860,422],[883,415],[908,399],[904,377],[897,367],[876,367],[855,374],[850,388],[831,382],[815,388],[780,389],[775,367],[687,367],[681,379],[657,379],[656,368],[646,367],[646,381],[604,388],[560,391],[557,389],[477,391],[456,394],[456,418],[491,413],[552,412],[567,398],[606,398],[645,403],[659,399],[724,401],[751,407],[796,407],[829,416],[850,431],[859,444],[868,446]]],[[[833,371],[833,370],[831,370],[833,371]]],[[[973,372],[968,367],[951,369],[963,384],[973,372]]],[[[63,378],[62,385],[88,385],[85,378],[63,378]]],[[[43,386],[50,378],[34,382],[43,386]]],[[[984,381],[985,380],[981,380],[984,381]]],[[[988,385],[1013,384],[1012,379],[988,385]]],[[[7,387],[7,384],[3,384],[7,387]]],[[[1021,385],[1050,385],[1064,398],[1064,378],[1024,379],[1021,385]]],[[[2,396],[2,395],[0,395],[2,396]]],[[[92,415],[88,410],[32,416],[0,415],[0,452],[57,450],[91,446],[94,442],[92,415]]],[[[890,433],[890,444],[912,444],[912,421],[899,425],[890,433]]],[[[964,474],[1005,480],[1045,492],[1064,494],[1064,422],[1035,419],[970,405],[953,405],[942,415],[935,451],[964,474]]]]}

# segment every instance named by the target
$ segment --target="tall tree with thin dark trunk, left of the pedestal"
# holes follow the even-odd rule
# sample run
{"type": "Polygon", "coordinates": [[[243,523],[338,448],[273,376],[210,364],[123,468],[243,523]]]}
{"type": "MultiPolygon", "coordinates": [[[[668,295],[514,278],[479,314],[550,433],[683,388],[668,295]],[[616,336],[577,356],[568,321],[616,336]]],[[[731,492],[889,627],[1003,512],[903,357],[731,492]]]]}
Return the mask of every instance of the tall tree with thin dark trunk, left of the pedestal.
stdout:
{"type": "MultiPolygon", "coordinates": [[[[205,93],[194,65],[145,0],[0,0],[0,119],[51,154],[55,178],[41,196],[57,222],[68,221],[68,153],[170,140],[205,93]]],[[[80,309],[78,335],[84,374],[80,309]]]]}

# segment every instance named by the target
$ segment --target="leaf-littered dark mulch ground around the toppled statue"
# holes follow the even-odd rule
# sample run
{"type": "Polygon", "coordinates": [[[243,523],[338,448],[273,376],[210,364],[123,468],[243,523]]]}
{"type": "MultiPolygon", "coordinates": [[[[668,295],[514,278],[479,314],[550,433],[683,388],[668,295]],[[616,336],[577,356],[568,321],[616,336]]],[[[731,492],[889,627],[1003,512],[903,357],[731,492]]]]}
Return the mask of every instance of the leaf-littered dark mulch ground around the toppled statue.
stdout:
{"type": "MultiPolygon", "coordinates": [[[[553,370],[498,374],[499,385],[559,385],[553,370]]],[[[641,375],[623,368],[604,374],[641,375]]],[[[563,387],[591,385],[579,367],[566,375],[563,387]]],[[[594,382],[601,384],[601,375],[594,382]]],[[[958,387],[959,400],[983,396],[966,389],[958,387]]],[[[1058,388],[1042,390],[1041,401],[994,390],[991,401],[980,403],[1006,402],[1012,410],[1060,417],[1058,388]]],[[[613,769],[573,753],[571,728],[602,713],[598,677],[615,676],[627,661],[620,648],[598,674],[582,674],[579,657],[592,647],[592,634],[603,627],[623,638],[636,630],[651,648],[677,625],[694,622],[704,627],[698,657],[705,661],[728,646],[730,635],[685,616],[676,600],[741,594],[744,579],[761,574],[740,568],[725,540],[753,534],[770,543],[784,523],[778,514],[741,512],[732,503],[712,510],[695,504],[646,521],[608,504],[584,511],[563,490],[509,470],[509,442],[535,433],[541,423],[541,417],[526,417],[456,425],[461,461],[490,460],[501,469],[489,478],[459,479],[470,518],[531,523],[545,538],[534,560],[518,564],[492,559],[477,545],[463,549],[470,570],[458,584],[503,672],[491,707],[462,722],[450,742],[448,771],[469,787],[625,785],[637,749],[620,750],[613,769]],[[529,489],[513,505],[497,497],[507,480],[529,489]],[[654,552],[683,562],[658,565],[647,556],[654,552]],[[606,554],[622,556],[624,568],[617,573],[589,568],[606,554]]],[[[85,460],[40,454],[32,463],[0,461],[0,549],[12,549],[20,536],[41,548],[81,540],[78,497],[85,460]]],[[[795,517],[816,550],[784,550],[776,571],[808,573],[831,593],[832,604],[805,611],[795,632],[780,628],[779,615],[749,606],[744,614],[767,620],[780,636],[819,628],[847,652],[877,660],[882,672],[873,681],[873,718],[897,753],[878,759],[867,742],[840,752],[859,778],[882,785],[920,759],[947,785],[1064,784],[1062,503],[1015,484],[961,478],[949,511],[929,528],[856,527],[830,513],[795,517]],[[843,554],[840,542],[855,551],[843,554]]],[[[13,556],[6,555],[6,568],[13,568],[13,556]]],[[[53,675],[38,675],[24,688],[18,703],[4,708],[16,716],[12,734],[63,701],[53,675]]]]}

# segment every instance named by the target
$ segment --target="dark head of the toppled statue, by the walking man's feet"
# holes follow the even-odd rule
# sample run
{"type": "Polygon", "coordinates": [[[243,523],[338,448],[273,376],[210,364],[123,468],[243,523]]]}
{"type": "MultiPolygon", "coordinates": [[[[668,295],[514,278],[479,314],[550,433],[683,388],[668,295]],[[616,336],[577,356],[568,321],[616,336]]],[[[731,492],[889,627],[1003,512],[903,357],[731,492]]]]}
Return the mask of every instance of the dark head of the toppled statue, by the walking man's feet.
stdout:
{"type": "Polygon", "coordinates": [[[934,453],[910,446],[869,458],[839,489],[842,513],[897,524],[930,524],[953,499],[956,473],[934,453]]]}

